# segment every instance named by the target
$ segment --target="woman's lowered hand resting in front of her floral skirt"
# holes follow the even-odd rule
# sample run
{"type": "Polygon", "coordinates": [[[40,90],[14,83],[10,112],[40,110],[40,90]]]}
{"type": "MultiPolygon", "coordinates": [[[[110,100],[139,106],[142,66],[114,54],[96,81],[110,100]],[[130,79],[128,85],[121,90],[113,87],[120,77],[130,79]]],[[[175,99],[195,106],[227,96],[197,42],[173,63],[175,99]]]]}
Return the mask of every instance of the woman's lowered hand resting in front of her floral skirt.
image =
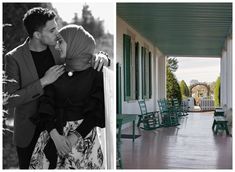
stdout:
{"type": "Polygon", "coordinates": [[[72,145],[70,141],[65,136],[60,135],[56,129],[53,129],[50,132],[50,135],[55,143],[59,155],[67,155],[72,150],[72,145]]]}

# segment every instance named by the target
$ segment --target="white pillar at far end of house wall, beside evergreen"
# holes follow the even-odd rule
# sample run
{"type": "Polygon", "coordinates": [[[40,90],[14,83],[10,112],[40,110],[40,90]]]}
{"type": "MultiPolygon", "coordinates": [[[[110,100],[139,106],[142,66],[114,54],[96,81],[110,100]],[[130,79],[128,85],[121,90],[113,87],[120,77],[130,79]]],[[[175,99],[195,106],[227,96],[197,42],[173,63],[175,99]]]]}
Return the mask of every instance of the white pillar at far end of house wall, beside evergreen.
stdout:
{"type": "Polygon", "coordinates": [[[166,97],[166,56],[158,57],[158,99],[166,97]]]}

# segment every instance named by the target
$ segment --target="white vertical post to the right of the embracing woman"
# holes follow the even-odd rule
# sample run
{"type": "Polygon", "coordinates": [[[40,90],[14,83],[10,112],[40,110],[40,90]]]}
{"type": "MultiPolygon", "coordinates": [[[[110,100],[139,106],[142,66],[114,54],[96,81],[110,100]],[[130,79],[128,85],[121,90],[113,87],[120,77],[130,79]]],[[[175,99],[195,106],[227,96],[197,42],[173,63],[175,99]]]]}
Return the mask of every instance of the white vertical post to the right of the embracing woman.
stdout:
{"type": "MultiPolygon", "coordinates": [[[[106,135],[106,168],[114,169],[114,137],[115,135],[115,102],[114,102],[114,72],[103,68],[104,100],[105,100],[105,135],[106,135]]],[[[104,154],[105,155],[105,154],[104,154]]]]}

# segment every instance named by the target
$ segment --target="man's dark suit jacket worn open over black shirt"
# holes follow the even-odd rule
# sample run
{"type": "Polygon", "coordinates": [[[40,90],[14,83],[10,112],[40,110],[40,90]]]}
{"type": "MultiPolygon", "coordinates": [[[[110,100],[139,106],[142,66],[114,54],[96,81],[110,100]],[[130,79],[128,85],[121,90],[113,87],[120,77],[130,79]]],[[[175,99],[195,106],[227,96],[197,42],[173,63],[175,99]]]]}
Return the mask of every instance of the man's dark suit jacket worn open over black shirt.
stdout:
{"type": "MultiPolygon", "coordinates": [[[[8,100],[7,107],[14,108],[14,144],[18,147],[27,147],[33,138],[36,126],[29,120],[35,115],[38,108],[38,98],[43,94],[43,88],[38,78],[28,40],[7,53],[5,72],[9,79],[4,92],[16,97],[8,100]]],[[[56,64],[62,64],[58,52],[50,47],[56,64]]]]}

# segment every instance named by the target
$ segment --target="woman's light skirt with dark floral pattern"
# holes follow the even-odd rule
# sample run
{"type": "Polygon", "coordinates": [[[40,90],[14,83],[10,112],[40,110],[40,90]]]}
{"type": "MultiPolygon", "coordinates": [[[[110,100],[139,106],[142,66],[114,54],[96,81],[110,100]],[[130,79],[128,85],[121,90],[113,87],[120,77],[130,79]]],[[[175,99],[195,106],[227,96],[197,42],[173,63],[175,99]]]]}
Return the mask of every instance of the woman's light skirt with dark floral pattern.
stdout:
{"type": "MultiPolygon", "coordinates": [[[[79,121],[69,121],[63,128],[63,135],[74,131],[80,124],[79,121]]],[[[44,148],[48,144],[50,135],[43,131],[35,145],[30,169],[48,169],[50,162],[45,155],[44,148]]],[[[82,139],[82,138],[81,138],[82,139]]],[[[78,141],[72,151],[66,156],[57,156],[56,169],[104,169],[104,157],[101,149],[97,128],[94,128],[84,140],[78,141]]]]}

